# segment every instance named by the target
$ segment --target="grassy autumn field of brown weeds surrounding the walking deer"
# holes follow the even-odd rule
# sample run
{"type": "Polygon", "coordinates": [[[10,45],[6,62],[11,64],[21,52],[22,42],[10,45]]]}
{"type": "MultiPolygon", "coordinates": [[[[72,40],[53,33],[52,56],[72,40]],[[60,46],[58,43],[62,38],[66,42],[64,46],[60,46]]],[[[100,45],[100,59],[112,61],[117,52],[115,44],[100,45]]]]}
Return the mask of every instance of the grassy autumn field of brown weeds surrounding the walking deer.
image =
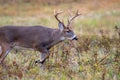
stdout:
{"type": "Polygon", "coordinates": [[[120,80],[119,0],[71,0],[59,4],[3,2],[0,26],[58,28],[54,10],[64,11],[60,18],[66,24],[68,12],[74,14],[79,10],[82,15],[72,23],[79,40],[65,40],[51,48],[44,69],[35,64],[39,52],[13,49],[0,65],[0,80],[120,80]]]}

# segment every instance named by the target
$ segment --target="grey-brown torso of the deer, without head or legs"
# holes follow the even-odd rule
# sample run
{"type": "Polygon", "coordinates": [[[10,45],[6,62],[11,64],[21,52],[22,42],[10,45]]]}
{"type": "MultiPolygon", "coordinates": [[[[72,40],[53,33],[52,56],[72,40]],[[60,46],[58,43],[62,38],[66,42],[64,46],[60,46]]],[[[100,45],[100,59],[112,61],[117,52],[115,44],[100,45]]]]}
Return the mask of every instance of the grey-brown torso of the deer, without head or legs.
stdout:
{"type": "Polygon", "coordinates": [[[2,39],[3,42],[11,44],[11,46],[26,48],[41,46],[49,49],[52,45],[61,41],[61,39],[59,39],[61,36],[59,29],[42,26],[5,26],[0,28],[0,34],[2,34],[0,39],[2,39]]]}

